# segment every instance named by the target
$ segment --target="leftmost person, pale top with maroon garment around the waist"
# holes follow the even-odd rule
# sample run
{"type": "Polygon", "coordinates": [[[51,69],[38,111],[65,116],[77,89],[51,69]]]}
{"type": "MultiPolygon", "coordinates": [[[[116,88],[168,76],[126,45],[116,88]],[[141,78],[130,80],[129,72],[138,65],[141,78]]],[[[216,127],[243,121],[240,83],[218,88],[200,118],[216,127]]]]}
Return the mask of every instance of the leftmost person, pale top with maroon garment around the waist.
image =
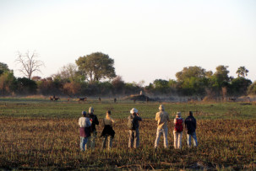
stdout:
{"type": "Polygon", "coordinates": [[[79,118],[79,136],[80,136],[80,150],[85,151],[85,144],[90,137],[90,118],[85,111],[82,111],[82,117],[79,118]]]}

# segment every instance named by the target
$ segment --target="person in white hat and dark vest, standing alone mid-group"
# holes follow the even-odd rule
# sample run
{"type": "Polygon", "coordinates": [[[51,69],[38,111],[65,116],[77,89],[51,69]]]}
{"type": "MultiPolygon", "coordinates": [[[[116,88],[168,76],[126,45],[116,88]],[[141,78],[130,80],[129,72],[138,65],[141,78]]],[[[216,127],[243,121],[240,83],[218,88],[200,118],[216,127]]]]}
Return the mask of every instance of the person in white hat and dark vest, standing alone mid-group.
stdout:
{"type": "Polygon", "coordinates": [[[130,110],[130,114],[128,116],[128,129],[129,129],[129,148],[138,148],[139,147],[139,121],[141,121],[141,117],[139,117],[138,110],[133,108],[130,110]]]}

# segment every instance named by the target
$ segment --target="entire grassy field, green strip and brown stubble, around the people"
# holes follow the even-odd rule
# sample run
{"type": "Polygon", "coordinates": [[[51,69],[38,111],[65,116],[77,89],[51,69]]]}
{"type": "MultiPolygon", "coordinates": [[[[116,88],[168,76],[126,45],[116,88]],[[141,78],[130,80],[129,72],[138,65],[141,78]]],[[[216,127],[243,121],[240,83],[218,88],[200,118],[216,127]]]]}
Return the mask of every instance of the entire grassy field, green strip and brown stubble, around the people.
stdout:
{"type": "Polygon", "coordinates": [[[154,151],[155,113],[159,103],[119,101],[48,102],[44,99],[0,99],[0,168],[3,169],[256,169],[255,104],[164,104],[170,118],[194,111],[199,147],[188,149],[183,131],[182,150],[169,148],[161,137],[154,151]],[[79,151],[78,119],[81,111],[95,108],[100,120],[93,151],[79,151]],[[133,107],[143,118],[140,147],[128,149],[127,117],[133,107]],[[102,150],[101,119],[112,110],[117,121],[111,151],[102,150]]]}

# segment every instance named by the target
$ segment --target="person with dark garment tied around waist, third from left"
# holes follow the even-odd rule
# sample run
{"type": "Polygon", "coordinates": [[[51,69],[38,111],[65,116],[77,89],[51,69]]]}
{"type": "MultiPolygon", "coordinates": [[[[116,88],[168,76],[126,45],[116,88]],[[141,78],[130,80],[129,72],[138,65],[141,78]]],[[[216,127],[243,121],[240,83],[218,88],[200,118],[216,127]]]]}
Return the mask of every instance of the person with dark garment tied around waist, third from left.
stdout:
{"type": "Polygon", "coordinates": [[[101,132],[101,137],[103,137],[102,148],[106,148],[106,140],[108,138],[108,150],[112,148],[112,139],[115,136],[115,131],[113,130],[112,126],[115,121],[110,117],[111,110],[106,111],[106,117],[102,121],[102,125],[104,126],[103,131],[101,132]]]}

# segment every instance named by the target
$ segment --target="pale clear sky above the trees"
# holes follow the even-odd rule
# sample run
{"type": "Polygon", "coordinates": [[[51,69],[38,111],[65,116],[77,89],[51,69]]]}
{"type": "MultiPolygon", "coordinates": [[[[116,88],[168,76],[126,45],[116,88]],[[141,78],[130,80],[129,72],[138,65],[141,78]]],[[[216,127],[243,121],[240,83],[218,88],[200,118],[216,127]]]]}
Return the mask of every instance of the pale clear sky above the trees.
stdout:
{"type": "Polygon", "coordinates": [[[256,81],[255,0],[0,0],[0,62],[22,77],[17,51],[50,77],[100,51],[128,83],[176,79],[183,67],[248,69],[256,81]]]}

